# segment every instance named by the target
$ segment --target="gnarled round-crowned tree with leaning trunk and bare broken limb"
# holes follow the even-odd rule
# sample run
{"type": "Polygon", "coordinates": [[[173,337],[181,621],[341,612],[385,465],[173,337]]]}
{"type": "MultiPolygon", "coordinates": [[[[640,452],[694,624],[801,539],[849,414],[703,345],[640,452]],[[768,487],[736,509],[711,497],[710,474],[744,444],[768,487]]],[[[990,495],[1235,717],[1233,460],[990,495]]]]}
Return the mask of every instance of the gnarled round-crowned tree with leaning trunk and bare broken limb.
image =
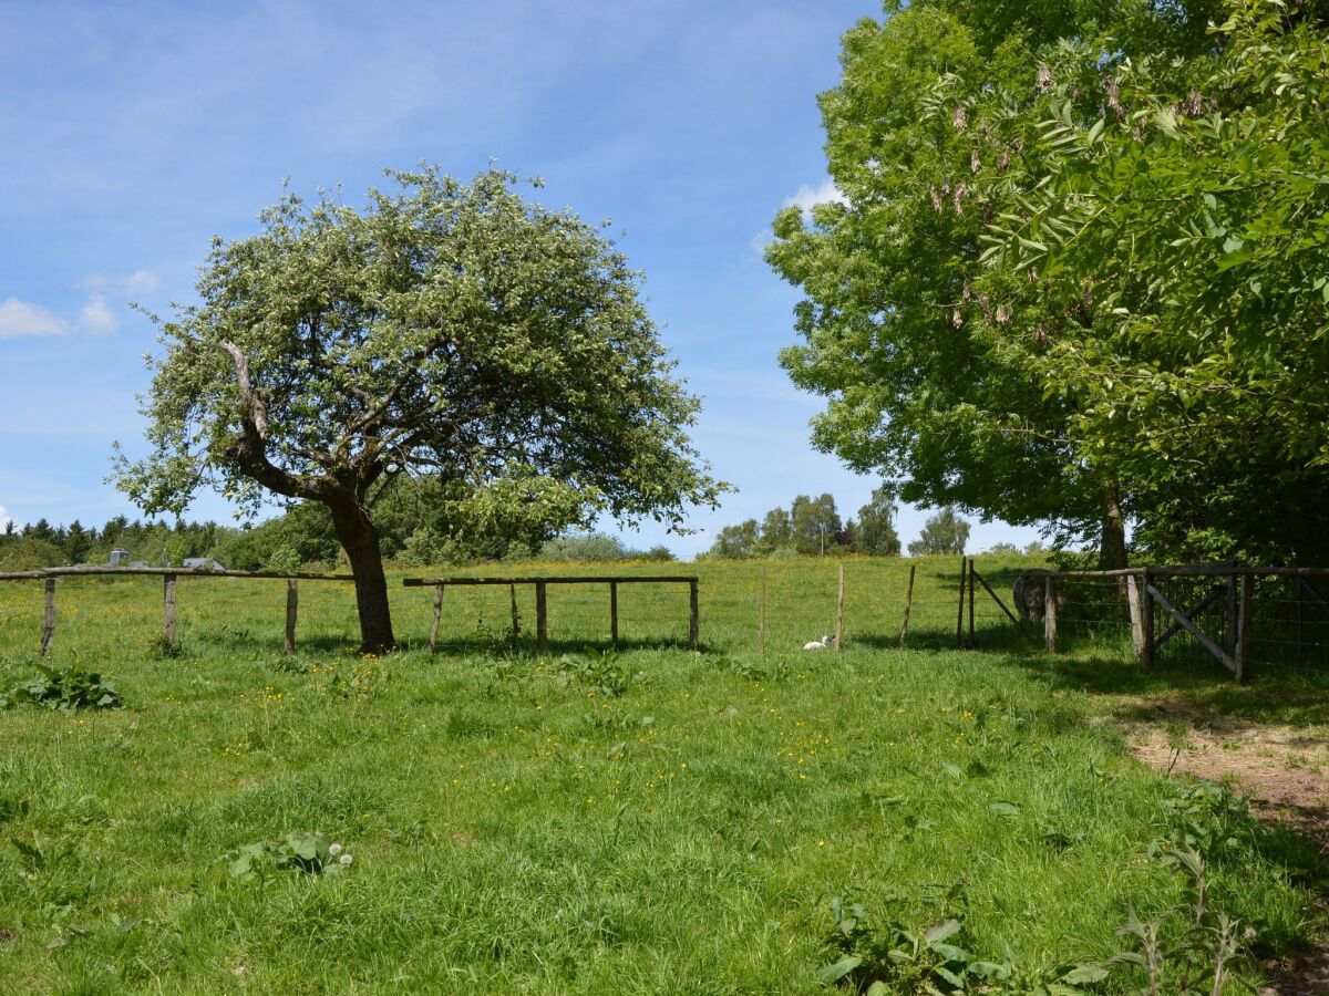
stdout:
{"type": "Polygon", "coordinates": [[[162,323],[150,360],[150,454],[117,463],[149,511],[179,513],[202,485],[327,506],[375,652],[395,639],[372,509],[404,474],[498,531],[678,526],[723,487],[686,434],[698,401],[639,278],[598,228],[505,173],[391,177],[361,210],[287,197],[258,235],[214,242],[199,301],[162,323]]]}

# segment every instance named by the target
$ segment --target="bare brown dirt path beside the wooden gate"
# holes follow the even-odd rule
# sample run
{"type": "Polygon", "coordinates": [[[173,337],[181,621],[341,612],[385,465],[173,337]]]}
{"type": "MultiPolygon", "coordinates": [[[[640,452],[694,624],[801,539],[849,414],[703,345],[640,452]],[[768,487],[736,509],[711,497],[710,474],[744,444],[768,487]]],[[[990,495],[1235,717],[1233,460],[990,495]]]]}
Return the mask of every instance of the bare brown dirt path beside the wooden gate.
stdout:
{"type": "MultiPolygon", "coordinates": [[[[1251,811],[1329,854],[1329,729],[1200,714],[1180,697],[1136,699],[1120,721],[1131,750],[1160,772],[1236,785],[1251,811]]],[[[1261,996],[1329,996],[1329,944],[1268,965],[1261,996]]]]}

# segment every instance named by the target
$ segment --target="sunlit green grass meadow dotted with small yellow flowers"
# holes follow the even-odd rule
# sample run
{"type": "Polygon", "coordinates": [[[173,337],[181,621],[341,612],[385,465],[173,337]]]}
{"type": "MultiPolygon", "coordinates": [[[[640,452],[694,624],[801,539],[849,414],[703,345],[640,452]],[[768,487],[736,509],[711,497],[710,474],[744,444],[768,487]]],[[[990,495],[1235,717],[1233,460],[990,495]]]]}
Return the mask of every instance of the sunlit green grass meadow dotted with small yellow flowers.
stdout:
{"type": "MultiPolygon", "coordinates": [[[[1092,720],[1162,688],[1256,709],[1276,679],[1053,664],[987,610],[981,643],[1007,649],[930,649],[954,640],[956,567],[924,562],[922,648],[901,652],[906,568],[852,562],[835,655],[796,649],[833,629],[835,566],[772,562],[764,657],[756,564],[698,564],[702,653],[680,645],[686,587],[625,586],[618,656],[598,586],[552,590],[549,656],[525,641],[529,591],[502,653],[508,591],[449,590],[431,657],[431,592],[397,588],[413,649],[375,660],[350,590],[304,584],[284,659],[284,586],[189,578],[171,659],[150,651],[159,582],[62,582],[52,661],[114,679],[128,708],[0,713],[0,989],[819,992],[833,896],[880,923],[961,916],[986,957],[1106,957],[1132,904],[1181,895],[1148,846],[1184,786],[1092,720]],[[229,875],[226,851],[291,831],[355,863],[229,875]]],[[[32,672],[40,600],[0,587],[3,680],[32,672]]],[[[1293,951],[1326,870],[1239,830],[1208,855],[1211,902],[1260,955],[1293,951]]]]}

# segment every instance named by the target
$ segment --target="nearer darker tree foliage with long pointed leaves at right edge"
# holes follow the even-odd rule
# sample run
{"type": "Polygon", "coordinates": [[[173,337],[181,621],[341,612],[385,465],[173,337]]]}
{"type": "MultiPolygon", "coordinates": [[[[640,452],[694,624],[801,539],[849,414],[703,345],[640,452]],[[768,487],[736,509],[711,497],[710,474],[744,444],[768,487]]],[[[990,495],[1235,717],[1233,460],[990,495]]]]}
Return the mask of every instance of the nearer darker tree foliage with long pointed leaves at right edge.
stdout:
{"type": "Polygon", "coordinates": [[[1015,210],[975,286],[1163,554],[1329,556],[1322,13],[1237,0],[1180,68],[1066,44],[1031,113],[997,96],[974,137],[983,161],[1025,147],[985,178],[1015,210]]]}

